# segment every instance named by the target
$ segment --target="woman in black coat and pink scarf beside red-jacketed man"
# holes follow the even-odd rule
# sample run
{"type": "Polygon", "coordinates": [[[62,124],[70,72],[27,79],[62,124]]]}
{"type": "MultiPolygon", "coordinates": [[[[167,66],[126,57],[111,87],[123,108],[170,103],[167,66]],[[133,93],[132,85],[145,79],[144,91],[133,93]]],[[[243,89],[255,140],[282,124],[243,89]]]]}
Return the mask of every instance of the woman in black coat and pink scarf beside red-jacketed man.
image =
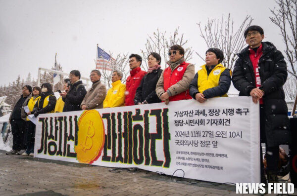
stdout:
{"type": "Polygon", "coordinates": [[[135,105],[159,103],[161,100],[156,94],[156,85],[162,74],[161,56],[156,52],[148,55],[148,73],[142,78],[135,94],[135,105]]]}

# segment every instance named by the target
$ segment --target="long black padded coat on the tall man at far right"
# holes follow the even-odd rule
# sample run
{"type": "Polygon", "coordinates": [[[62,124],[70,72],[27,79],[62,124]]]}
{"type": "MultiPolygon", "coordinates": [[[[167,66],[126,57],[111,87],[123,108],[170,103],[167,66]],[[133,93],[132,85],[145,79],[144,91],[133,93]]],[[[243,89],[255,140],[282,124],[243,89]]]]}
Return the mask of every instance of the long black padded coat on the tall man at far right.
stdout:
{"type": "MultiPolygon", "coordinates": [[[[256,87],[253,66],[249,58],[248,46],[239,54],[235,63],[232,81],[239,96],[249,96],[256,87]]],[[[291,142],[288,107],[285,101],[283,85],[288,73],[282,53],[270,42],[262,42],[263,54],[258,63],[261,86],[264,91],[263,107],[265,111],[265,135],[269,147],[291,142]]],[[[263,142],[263,141],[262,141],[263,142]]]]}

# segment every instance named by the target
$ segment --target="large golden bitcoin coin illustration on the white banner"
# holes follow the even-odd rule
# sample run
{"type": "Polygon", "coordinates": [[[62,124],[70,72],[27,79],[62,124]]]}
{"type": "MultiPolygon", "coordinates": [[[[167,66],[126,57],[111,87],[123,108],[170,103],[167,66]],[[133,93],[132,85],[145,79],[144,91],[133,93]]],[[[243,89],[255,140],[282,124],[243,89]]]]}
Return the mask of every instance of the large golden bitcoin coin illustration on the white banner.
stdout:
{"type": "Polygon", "coordinates": [[[81,163],[93,163],[102,152],[105,140],[103,120],[97,110],[84,111],[78,119],[76,158],[81,163]]]}

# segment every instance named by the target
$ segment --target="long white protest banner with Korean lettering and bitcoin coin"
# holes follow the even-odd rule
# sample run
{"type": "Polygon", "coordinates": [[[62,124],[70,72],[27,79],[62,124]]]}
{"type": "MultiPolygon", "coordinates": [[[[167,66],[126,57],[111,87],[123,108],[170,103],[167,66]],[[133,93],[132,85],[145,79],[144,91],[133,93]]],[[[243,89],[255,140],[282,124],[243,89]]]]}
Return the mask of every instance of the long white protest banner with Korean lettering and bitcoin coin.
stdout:
{"type": "Polygon", "coordinates": [[[229,183],[259,183],[259,105],[184,100],[39,115],[34,156],[229,183]]]}

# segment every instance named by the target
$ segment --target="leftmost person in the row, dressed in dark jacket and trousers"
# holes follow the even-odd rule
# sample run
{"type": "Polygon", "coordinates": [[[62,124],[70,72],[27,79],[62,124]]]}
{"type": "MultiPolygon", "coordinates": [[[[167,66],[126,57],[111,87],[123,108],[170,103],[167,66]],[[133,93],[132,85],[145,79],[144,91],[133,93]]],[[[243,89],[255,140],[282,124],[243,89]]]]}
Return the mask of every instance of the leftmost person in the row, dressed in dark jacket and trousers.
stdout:
{"type": "Polygon", "coordinates": [[[32,87],[25,85],[22,88],[22,95],[18,96],[12,106],[12,111],[9,117],[11,125],[11,132],[13,135],[12,150],[6,155],[21,155],[25,152],[24,135],[26,118],[21,118],[21,113],[24,113],[23,107],[26,106],[28,100],[31,98],[32,87]]]}

